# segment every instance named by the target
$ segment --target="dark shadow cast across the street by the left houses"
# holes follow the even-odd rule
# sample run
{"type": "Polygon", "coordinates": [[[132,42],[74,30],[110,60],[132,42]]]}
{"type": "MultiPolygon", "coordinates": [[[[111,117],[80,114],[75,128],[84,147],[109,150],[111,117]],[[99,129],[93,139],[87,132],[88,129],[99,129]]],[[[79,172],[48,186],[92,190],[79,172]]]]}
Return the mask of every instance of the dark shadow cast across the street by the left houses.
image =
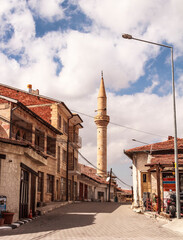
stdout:
{"type": "Polygon", "coordinates": [[[37,219],[13,230],[1,230],[0,236],[41,233],[47,232],[44,236],[52,234],[57,230],[75,227],[84,227],[95,224],[96,214],[112,213],[121,203],[75,203],[68,204],[53,210],[37,219]],[[50,233],[51,231],[51,233],[50,233]]]}

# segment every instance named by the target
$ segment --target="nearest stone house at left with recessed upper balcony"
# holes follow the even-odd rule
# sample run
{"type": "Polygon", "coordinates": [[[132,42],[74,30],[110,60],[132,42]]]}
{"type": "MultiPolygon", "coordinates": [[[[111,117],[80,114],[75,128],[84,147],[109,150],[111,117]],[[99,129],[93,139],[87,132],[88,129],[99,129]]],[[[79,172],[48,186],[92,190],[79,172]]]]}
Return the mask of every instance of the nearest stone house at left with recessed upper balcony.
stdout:
{"type": "MultiPolygon", "coordinates": [[[[62,133],[17,100],[0,96],[1,133],[0,193],[7,197],[7,210],[15,212],[15,219],[28,217],[39,201],[38,170],[43,166],[45,176],[54,174],[55,139],[62,133]]],[[[54,186],[49,182],[45,188],[44,197],[53,197],[54,186]]]]}

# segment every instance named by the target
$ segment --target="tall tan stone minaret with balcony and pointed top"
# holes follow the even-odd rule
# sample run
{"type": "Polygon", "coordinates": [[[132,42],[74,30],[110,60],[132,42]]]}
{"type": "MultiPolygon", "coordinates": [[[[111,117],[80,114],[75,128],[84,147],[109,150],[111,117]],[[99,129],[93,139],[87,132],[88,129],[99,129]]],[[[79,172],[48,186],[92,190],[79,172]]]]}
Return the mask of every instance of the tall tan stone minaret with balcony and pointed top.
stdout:
{"type": "Polygon", "coordinates": [[[97,174],[105,178],[107,176],[107,125],[109,116],[107,116],[107,97],[103,72],[101,75],[95,123],[97,125],[97,174]]]}

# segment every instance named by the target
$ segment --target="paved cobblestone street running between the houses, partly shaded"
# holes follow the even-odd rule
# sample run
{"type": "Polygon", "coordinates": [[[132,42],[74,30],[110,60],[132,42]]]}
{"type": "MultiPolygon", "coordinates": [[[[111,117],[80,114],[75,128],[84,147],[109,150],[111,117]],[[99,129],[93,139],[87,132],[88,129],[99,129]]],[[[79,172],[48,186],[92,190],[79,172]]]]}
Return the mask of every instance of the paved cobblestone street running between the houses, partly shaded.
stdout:
{"type": "Polygon", "coordinates": [[[163,224],[165,221],[134,213],[130,205],[78,203],[55,209],[17,229],[1,231],[0,240],[183,239],[163,224]]]}

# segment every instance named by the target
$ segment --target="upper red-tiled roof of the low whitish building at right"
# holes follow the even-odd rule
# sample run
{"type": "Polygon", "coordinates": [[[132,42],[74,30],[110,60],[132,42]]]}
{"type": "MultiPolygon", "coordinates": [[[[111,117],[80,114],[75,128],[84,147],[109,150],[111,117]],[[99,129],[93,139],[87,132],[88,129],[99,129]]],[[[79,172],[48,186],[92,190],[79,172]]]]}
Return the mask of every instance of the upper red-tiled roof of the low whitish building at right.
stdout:
{"type": "MultiPolygon", "coordinates": [[[[183,149],[183,139],[177,139],[177,147],[178,149],[183,149]]],[[[143,152],[143,151],[158,151],[158,150],[173,150],[174,149],[174,138],[169,137],[169,140],[164,142],[152,143],[149,145],[136,147],[132,149],[125,150],[125,153],[133,153],[133,152],[143,152]]]]}

